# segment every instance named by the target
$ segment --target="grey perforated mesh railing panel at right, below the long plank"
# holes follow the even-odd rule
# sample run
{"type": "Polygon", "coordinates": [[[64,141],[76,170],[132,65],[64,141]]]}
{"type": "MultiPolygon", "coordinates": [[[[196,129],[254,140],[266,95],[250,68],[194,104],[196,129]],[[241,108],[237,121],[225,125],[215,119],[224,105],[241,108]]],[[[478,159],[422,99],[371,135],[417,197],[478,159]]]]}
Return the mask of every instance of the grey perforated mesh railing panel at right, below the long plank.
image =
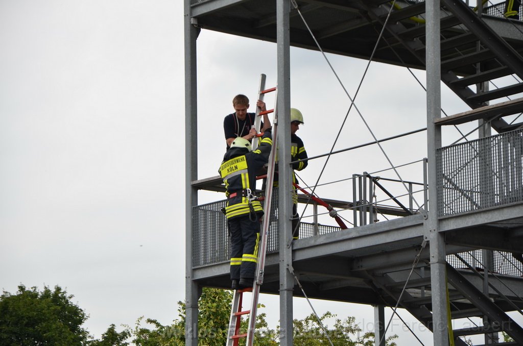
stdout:
{"type": "Polygon", "coordinates": [[[523,130],[437,150],[438,215],[523,201],[523,130]]]}

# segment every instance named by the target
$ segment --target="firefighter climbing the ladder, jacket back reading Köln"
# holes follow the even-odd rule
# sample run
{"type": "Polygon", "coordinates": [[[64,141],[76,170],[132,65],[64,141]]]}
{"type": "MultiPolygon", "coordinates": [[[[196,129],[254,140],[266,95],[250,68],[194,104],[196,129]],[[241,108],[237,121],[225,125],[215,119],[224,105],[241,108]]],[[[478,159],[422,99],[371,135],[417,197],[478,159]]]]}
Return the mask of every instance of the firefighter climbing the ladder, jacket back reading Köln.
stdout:
{"type": "Polygon", "coordinates": [[[255,200],[256,172],[269,159],[272,147],[271,129],[265,130],[258,148],[253,151],[251,143],[237,137],[223,156],[218,170],[225,183],[227,204],[225,216],[231,234],[231,281],[232,289],[253,285],[258,258],[260,237],[259,219],[263,208],[255,200]]]}

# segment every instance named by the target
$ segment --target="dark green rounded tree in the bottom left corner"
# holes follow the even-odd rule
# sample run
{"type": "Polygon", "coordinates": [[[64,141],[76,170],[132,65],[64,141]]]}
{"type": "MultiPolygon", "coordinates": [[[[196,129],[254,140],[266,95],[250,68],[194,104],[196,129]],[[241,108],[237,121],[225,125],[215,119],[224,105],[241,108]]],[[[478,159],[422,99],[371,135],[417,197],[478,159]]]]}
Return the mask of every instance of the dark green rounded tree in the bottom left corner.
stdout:
{"type": "Polygon", "coordinates": [[[82,328],[84,311],[73,304],[73,295],[54,286],[19,285],[16,294],[3,291],[0,296],[0,344],[6,346],[85,344],[88,332],[82,328]]]}

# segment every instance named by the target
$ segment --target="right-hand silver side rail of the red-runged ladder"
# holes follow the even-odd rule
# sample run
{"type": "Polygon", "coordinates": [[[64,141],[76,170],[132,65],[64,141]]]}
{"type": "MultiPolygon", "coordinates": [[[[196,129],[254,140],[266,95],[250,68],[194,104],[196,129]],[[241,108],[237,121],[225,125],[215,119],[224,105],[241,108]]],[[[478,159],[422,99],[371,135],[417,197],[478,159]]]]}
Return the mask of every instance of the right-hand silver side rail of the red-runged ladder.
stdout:
{"type": "Polygon", "coordinates": [[[251,298],[251,313],[249,314],[249,326],[247,329],[246,346],[252,346],[254,342],[254,330],[256,327],[256,315],[258,308],[258,297],[260,286],[263,284],[263,275],[265,269],[265,255],[267,252],[267,235],[270,225],[270,205],[272,200],[272,186],[274,185],[274,172],[276,165],[276,148],[278,147],[278,110],[276,109],[276,102],[278,102],[278,90],[276,90],[274,115],[272,119],[272,148],[269,155],[269,165],[267,167],[267,183],[265,187],[265,201],[264,201],[264,217],[261,230],[261,244],[259,247],[258,260],[256,263],[256,272],[253,293],[251,298]]]}

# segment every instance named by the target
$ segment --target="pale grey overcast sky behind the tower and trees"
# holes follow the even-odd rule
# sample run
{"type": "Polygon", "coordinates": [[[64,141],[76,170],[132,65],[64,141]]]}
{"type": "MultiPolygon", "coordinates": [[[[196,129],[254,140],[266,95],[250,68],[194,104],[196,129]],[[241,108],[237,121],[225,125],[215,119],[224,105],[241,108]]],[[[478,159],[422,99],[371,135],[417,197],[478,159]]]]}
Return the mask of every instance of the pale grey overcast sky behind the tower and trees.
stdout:
{"type": "MultiPolygon", "coordinates": [[[[183,2],[0,0],[0,47],[0,288],[62,286],[95,337],[140,316],[169,324],[185,296],[183,2]]],[[[217,174],[232,97],[246,94],[254,105],[260,73],[276,85],[275,49],[202,30],[199,178],[217,174]]],[[[367,62],[329,59],[354,95],[367,62]]],[[[291,49],[291,66],[291,105],[305,120],[298,135],[309,156],[327,153],[349,100],[320,53],[291,49]]],[[[450,114],[467,110],[442,93],[450,114]]],[[[424,128],[425,100],[406,69],[372,63],[356,103],[383,138],[424,128]]],[[[335,148],[371,140],[353,110],[335,148]]],[[[395,165],[414,162],[426,157],[425,133],[383,147],[395,165]]],[[[305,185],[323,163],[303,171],[305,185]]],[[[389,167],[377,147],[349,152],[332,159],[320,183],[389,167]]],[[[421,181],[420,169],[403,178],[421,181]]],[[[350,199],[350,185],[324,188],[337,191],[324,197],[350,199]]],[[[265,299],[274,328],[277,297],[265,299]]],[[[295,318],[311,313],[295,300],[295,318]]],[[[356,316],[365,331],[373,319],[368,306],[315,302],[319,314],[356,316]]],[[[398,322],[391,330],[415,340],[398,322]]]]}

